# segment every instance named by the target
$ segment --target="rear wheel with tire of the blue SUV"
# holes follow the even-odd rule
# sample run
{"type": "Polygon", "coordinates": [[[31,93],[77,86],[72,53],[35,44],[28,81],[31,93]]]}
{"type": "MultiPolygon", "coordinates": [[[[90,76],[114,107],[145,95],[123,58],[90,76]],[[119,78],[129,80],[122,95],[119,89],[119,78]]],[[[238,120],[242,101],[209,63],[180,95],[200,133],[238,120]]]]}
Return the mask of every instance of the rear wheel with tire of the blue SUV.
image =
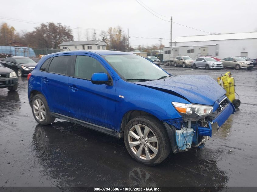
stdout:
{"type": "Polygon", "coordinates": [[[42,94],[33,97],[31,108],[36,122],[40,125],[49,125],[54,122],[55,117],[50,115],[47,100],[42,94]]]}

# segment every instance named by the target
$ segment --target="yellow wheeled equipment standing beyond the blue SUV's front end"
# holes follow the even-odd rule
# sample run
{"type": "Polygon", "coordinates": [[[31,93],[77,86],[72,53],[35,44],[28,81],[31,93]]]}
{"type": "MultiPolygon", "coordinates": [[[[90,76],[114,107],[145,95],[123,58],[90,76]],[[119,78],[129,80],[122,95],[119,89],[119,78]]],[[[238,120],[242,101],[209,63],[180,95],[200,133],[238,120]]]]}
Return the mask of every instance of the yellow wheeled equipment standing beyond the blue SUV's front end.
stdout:
{"type": "Polygon", "coordinates": [[[234,77],[231,77],[231,72],[226,72],[224,76],[217,78],[218,83],[226,90],[227,98],[233,103],[235,107],[239,107],[241,102],[239,95],[235,92],[234,77]],[[238,99],[235,98],[238,95],[238,99]]]}

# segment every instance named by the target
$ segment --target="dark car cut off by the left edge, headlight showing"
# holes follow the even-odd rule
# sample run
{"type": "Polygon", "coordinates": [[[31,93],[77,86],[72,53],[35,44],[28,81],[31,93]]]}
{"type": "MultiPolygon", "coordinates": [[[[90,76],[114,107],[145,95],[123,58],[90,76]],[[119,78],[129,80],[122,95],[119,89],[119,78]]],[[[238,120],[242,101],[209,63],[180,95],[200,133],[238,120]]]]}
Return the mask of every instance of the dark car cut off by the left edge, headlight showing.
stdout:
{"type": "Polygon", "coordinates": [[[6,87],[10,91],[15,91],[18,87],[18,77],[12,69],[3,66],[0,62],[0,88],[6,87]]]}

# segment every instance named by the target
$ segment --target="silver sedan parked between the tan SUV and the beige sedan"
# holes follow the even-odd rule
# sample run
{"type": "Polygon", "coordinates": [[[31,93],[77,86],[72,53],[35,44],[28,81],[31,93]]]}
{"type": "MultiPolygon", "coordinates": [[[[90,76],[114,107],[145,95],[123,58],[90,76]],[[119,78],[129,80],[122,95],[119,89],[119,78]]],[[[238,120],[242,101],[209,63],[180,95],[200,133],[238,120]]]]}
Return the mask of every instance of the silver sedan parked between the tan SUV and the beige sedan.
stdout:
{"type": "Polygon", "coordinates": [[[223,69],[224,66],[222,62],[217,61],[211,57],[199,57],[193,62],[193,68],[205,68],[205,69],[213,69],[220,68],[223,69]]]}

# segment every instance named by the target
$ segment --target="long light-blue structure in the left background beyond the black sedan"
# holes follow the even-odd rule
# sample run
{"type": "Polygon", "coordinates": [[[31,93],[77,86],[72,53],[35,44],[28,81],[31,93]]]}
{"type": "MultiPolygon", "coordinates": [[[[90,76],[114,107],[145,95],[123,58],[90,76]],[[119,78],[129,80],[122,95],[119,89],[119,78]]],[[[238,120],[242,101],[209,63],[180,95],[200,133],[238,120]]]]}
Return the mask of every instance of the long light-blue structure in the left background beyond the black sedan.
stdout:
{"type": "Polygon", "coordinates": [[[15,56],[36,57],[34,50],[30,47],[0,46],[0,54],[1,53],[15,56]]]}

